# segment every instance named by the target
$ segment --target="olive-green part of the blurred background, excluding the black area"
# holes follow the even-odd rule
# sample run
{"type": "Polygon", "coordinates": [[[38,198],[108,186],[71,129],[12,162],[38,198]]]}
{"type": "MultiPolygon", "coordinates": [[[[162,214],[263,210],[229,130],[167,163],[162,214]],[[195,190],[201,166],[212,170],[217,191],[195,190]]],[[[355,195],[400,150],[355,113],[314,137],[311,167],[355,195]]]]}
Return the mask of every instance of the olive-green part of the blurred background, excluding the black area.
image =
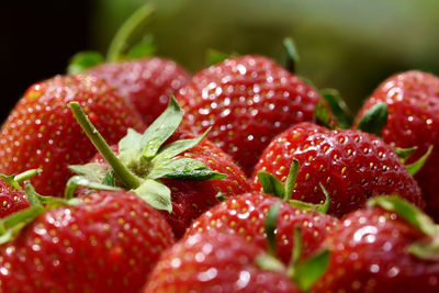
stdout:
{"type": "MultiPolygon", "coordinates": [[[[145,0],[100,0],[94,48],[104,50],[119,25],[145,0]]],[[[390,75],[439,74],[437,0],[156,0],[145,31],[158,54],[191,71],[205,52],[263,54],[281,59],[284,36],[295,40],[299,74],[318,88],[336,88],[357,111],[390,75]]]]}

